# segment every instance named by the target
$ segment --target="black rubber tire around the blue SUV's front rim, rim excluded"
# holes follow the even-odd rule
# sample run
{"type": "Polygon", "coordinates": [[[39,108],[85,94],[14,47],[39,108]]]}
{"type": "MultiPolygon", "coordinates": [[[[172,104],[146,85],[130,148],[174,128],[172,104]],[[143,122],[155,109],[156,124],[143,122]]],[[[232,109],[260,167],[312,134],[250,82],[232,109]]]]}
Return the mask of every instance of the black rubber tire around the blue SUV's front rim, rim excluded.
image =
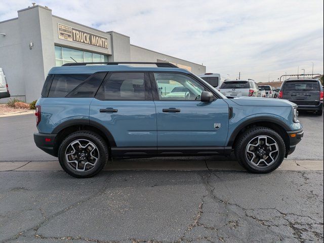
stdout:
{"type": "Polygon", "coordinates": [[[234,146],[234,152],[238,163],[242,167],[253,173],[269,173],[271,171],[274,171],[281,165],[286,155],[286,146],[284,140],[277,132],[266,127],[254,127],[246,130],[238,137],[237,142],[235,142],[234,146]],[[272,162],[272,164],[269,163],[269,166],[256,166],[248,159],[248,153],[246,152],[247,146],[253,139],[258,136],[269,137],[269,140],[273,140],[277,144],[278,153],[275,159],[273,159],[274,162],[272,162]]]}

